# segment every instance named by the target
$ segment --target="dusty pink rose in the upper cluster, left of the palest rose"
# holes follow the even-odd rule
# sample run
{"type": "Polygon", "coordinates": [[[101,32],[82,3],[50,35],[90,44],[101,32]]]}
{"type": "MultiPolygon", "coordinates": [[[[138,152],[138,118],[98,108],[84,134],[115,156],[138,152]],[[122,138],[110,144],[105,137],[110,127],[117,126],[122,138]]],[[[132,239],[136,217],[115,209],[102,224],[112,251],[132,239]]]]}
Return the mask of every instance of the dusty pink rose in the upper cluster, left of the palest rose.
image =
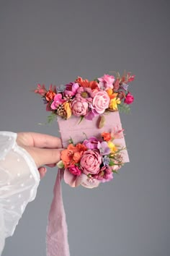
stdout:
{"type": "Polygon", "coordinates": [[[88,111],[88,103],[81,98],[74,98],[71,102],[71,110],[74,116],[85,116],[88,111]]]}

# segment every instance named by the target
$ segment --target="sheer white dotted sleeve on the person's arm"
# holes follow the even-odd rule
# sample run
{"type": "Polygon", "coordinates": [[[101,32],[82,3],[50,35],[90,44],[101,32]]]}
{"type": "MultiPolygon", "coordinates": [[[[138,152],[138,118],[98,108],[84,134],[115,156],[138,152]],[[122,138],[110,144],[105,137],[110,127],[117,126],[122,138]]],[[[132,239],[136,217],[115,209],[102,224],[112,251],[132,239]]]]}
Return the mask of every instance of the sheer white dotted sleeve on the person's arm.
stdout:
{"type": "Polygon", "coordinates": [[[16,133],[0,132],[0,255],[40,182],[34,160],[16,138],[16,133]]]}

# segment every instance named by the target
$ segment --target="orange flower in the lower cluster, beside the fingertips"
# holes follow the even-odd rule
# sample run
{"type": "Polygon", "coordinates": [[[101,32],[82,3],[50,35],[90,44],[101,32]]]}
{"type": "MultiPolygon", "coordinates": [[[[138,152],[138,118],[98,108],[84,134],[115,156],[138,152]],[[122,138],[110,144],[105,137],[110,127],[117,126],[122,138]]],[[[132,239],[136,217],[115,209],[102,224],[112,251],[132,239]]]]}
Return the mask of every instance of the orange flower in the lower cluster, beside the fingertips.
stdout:
{"type": "Polygon", "coordinates": [[[61,160],[63,161],[65,168],[68,168],[75,163],[79,163],[81,155],[83,155],[86,150],[86,146],[81,143],[76,146],[69,144],[66,150],[61,151],[61,160]]]}

